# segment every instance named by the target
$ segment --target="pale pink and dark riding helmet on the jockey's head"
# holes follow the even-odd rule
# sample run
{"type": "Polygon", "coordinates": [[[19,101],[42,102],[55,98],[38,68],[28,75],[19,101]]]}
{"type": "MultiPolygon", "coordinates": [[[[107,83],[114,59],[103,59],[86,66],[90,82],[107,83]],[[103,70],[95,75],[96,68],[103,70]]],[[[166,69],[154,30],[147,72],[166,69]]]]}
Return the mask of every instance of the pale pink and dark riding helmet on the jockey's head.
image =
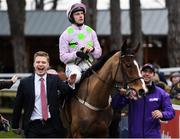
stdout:
{"type": "Polygon", "coordinates": [[[73,18],[73,13],[75,13],[77,11],[83,11],[84,15],[85,15],[86,14],[86,6],[83,3],[75,3],[67,9],[66,14],[71,23],[75,23],[75,20],[73,18]]]}

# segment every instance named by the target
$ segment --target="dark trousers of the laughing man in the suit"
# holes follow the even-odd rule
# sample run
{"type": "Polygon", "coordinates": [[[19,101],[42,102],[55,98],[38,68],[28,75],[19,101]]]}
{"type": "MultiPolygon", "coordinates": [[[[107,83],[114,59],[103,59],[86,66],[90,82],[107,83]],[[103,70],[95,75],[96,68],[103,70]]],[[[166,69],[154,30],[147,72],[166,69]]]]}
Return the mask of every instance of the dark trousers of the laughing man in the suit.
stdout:
{"type": "Polygon", "coordinates": [[[53,127],[51,119],[47,121],[34,120],[31,121],[27,132],[25,133],[26,138],[58,138],[59,133],[53,127]]]}

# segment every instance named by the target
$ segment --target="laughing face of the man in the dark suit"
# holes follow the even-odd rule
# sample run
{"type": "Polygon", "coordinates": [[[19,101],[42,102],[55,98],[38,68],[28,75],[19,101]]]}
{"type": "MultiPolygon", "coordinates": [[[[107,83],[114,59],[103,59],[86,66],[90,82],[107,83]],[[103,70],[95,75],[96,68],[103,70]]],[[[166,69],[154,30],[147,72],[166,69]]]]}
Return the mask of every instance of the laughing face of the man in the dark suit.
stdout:
{"type": "Polygon", "coordinates": [[[49,62],[47,57],[37,56],[34,60],[34,69],[35,73],[39,76],[43,76],[46,74],[47,69],[49,68],[49,62]]]}

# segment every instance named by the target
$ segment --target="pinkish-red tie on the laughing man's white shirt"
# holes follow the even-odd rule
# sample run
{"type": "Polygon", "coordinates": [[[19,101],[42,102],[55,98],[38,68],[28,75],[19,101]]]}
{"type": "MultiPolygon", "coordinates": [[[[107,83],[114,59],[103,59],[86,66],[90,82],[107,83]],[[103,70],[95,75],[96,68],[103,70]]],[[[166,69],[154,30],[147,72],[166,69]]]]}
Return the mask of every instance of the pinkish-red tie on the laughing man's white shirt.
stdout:
{"type": "Polygon", "coordinates": [[[41,107],[42,107],[42,117],[46,121],[48,119],[48,108],[47,108],[47,101],[46,101],[46,91],[44,85],[44,79],[41,78],[41,107]]]}

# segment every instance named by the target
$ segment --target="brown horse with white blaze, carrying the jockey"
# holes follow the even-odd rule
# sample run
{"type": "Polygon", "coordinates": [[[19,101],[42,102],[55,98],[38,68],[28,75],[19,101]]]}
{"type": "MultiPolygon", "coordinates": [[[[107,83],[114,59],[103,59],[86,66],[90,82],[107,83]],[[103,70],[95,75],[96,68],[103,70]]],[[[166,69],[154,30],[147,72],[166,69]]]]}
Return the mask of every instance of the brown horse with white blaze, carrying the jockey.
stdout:
{"type": "Polygon", "coordinates": [[[136,52],[137,49],[130,48],[125,41],[121,51],[102,58],[101,62],[89,68],[88,76],[81,81],[77,93],[65,107],[67,117],[63,121],[66,121],[68,137],[109,136],[108,127],[113,114],[110,96],[117,89],[115,83],[135,90],[138,97],[147,92],[135,60],[136,52]]]}

